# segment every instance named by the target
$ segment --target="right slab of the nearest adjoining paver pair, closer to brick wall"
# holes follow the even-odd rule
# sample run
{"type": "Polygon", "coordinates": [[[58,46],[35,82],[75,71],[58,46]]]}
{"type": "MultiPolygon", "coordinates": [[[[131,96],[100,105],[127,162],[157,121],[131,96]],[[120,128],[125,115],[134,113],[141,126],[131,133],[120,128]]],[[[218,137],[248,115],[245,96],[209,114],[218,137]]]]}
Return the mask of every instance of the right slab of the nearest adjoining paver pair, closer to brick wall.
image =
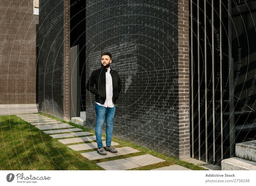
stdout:
{"type": "Polygon", "coordinates": [[[165,161],[164,159],[156,158],[155,156],[152,156],[150,154],[134,156],[134,157],[125,158],[125,159],[140,166],[147,166],[147,165],[152,165],[155,163],[160,163],[162,161],[165,161]]]}

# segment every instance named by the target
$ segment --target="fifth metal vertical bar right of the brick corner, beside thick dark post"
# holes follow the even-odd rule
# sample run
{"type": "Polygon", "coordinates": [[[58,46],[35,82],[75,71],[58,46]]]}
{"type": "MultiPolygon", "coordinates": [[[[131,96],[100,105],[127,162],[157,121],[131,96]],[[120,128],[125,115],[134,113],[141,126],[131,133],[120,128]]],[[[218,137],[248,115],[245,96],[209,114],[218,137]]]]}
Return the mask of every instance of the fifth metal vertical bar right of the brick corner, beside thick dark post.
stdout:
{"type": "Polygon", "coordinates": [[[222,6],[220,0],[220,137],[221,137],[221,160],[223,157],[223,83],[222,83],[222,6]]]}

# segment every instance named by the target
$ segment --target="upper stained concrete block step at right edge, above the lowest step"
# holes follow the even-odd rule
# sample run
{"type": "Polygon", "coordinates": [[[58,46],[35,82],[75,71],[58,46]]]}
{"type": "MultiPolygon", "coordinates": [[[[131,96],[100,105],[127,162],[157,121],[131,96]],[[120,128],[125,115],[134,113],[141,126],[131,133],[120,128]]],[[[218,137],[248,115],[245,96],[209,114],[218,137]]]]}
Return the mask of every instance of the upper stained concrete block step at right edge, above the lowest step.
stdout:
{"type": "Polygon", "coordinates": [[[236,143],[236,157],[256,162],[256,140],[236,143]]]}

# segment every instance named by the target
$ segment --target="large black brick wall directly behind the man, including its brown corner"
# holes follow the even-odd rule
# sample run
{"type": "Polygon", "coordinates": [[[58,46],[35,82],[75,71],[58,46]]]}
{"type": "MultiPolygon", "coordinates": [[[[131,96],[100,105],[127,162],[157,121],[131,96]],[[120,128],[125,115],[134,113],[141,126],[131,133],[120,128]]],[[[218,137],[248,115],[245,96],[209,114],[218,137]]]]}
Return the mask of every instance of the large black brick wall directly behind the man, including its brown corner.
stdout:
{"type": "MultiPolygon", "coordinates": [[[[86,80],[108,51],[123,84],[113,135],[189,158],[188,1],[97,0],[86,7],[86,80]]],[[[86,117],[94,128],[89,92],[86,117]]]]}

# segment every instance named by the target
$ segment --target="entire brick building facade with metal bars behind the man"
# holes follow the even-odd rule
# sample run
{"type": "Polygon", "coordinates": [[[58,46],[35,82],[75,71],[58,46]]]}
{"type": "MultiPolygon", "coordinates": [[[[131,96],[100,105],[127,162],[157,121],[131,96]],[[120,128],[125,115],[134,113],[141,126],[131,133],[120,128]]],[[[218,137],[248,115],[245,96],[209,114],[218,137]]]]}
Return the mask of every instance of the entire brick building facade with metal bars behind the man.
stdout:
{"type": "Polygon", "coordinates": [[[85,84],[110,52],[123,85],[115,137],[213,163],[255,139],[254,1],[22,2],[1,6],[1,104],[86,111],[94,129],[85,84]]]}

